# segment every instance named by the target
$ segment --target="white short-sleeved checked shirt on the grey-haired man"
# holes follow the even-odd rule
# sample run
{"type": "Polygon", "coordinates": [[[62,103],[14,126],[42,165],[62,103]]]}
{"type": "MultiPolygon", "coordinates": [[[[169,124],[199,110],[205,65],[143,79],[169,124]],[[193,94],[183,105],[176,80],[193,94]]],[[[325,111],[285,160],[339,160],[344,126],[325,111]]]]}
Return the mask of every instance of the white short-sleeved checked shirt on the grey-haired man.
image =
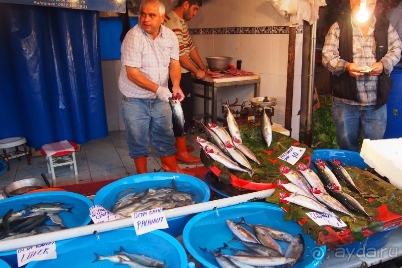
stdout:
{"type": "Polygon", "coordinates": [[[136,24],[126,34],[121,47],[122,67],[119,89],[123,95],[138,99],[156,99],[156,94],[140,88],[127,77],[126,66],[139,68],[139,72],[152,82],[167,87],[170,59],[179,60],[176,35],[160,25],[160,32],[153,40],[136,24]]]}

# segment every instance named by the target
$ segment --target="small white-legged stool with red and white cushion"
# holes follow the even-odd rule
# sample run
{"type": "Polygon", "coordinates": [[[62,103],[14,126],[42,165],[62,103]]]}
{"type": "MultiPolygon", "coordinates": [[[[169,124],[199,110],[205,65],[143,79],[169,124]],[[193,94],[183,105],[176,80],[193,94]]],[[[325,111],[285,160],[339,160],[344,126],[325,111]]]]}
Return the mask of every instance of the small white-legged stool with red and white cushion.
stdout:
{"type": "MultiPolygon", "coordinates": [[[[57,152],[52,154],[52,155],[47,155],[46,151],[43,149],[45,145],[51,146],[54,148],[61,148],[60,146],[61,142],[53,142],[53,143],[48,143],[43,145],[40,148],[40,152],[46,156],[46,164],[47,164],[47,171],[52,174],[52,180],[56,179],[56,175],[54,173],[54,168],[57,166],[64,166],[64,165],[70,165],[70,168],[74,167],[74,175],[78,175],[77,171],[77,160],[75,158],[75,151],[77,150],[78,146],[77,143],[68,141],[68,143],[73,146],[74,150],[63,150],[63,149],[58,149],[56,150],[57,152]]],[[[68,144],[67,143],[67,144],[68,144]]]]}

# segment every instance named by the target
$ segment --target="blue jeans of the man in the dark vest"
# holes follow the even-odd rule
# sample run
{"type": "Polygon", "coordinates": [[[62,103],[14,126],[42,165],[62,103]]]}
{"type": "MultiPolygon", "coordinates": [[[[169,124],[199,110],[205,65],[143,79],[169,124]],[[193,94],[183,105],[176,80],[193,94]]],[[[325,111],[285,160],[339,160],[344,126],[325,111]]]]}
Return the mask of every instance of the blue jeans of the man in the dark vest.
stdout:
{"type": "Polygon", "coordinates": [[[341,149],[360,151],[359,129],[363,139],[382,139],[387,127],[387,105],[375,110],[375,105],[349,105],[333,98],[332,118],[341,149]]]}

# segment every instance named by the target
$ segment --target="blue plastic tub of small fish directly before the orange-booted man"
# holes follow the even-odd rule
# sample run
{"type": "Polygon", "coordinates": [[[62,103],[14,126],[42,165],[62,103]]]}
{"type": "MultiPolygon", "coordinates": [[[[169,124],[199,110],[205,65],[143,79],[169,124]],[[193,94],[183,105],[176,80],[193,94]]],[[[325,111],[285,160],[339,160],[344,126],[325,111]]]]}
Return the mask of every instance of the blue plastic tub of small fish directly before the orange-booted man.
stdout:
{"type": "MultiPolygon", "coordinates": [[[[195,203],[209,201],[211,192],[208,185],[202,180],[186,174],[156,172],[130,176],[106,185],[96,193],[94,204],[110,210],[116,203],[117,196],[120,192],[130,188],[134,188],[134,192],[143,192],[148,188],[172,187],[172,179],[174,179],[177,190],[194,194],[193,198],[195,203]]],[[[162,231],[176,237],[183,232],[184,225],[192,216],[194,215],[168,219],[167,224],[169,228],[162,229],[162,231]]]]}

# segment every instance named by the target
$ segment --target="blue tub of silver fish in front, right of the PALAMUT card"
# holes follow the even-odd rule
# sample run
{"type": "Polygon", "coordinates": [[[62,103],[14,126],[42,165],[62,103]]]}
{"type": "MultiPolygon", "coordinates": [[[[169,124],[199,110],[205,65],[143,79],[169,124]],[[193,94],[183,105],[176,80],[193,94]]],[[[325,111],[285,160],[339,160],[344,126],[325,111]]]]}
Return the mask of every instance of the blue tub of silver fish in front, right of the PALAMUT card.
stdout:
{"type": "MultiPolygon", "coordinates": [[[[302,234],[301,227],[294,221],[285,222],[284,212],[274,204],[245,203],[218,209],[218,211],[206,211],[194,216],[184,227],[183,243],[187,251],[207,268],[219,268],[214,257],[202,250],[218,250],[223,243],[229,242],[233,236],[226,224],[226,219],[240,222],[242,216],[246,222],[264,224],[272,228],[284,230],[292,235],[301,234],[304,239],[303,257],[293,267],[316,267],[325,256],[326,246],[317,246],[316,242],[302,234]],[[213,231],[212,231],[213,230],[213,231]]],[[[288,243],[278,242],[282,250],[286,252],[288,243]]],[[[236,243],[231,243],[235,246],[236,243]]],[[[239,244],[237,244],[239,245],[239,244]]],[[[236,246],[237,246],[236,245],[236,246]]],[[[242,246],[239,246],[241,248],[242,246]]]]}

